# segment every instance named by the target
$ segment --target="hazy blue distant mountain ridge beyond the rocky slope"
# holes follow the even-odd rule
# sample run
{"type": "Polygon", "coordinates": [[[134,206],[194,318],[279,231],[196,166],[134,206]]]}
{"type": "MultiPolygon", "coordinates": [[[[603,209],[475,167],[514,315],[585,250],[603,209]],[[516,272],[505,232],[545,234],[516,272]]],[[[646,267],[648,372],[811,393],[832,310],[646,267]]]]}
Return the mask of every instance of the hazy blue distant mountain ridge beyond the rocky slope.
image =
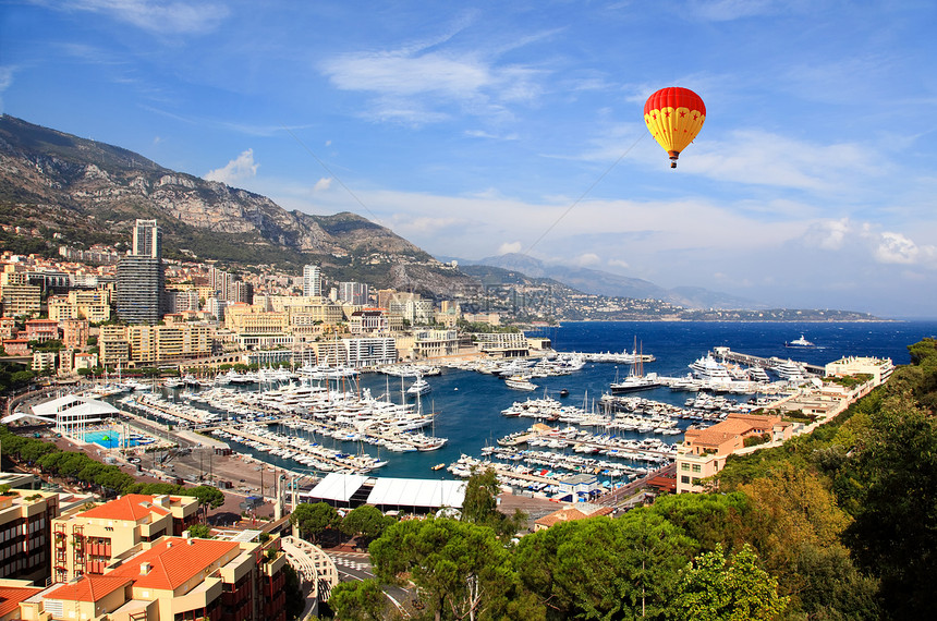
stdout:
{"type": "Polygon", "coordinates": [[[523,272],[531,278],[551,279],[572,289],[595,295],[632,297],[635,300],[664,300],[687,308],[760,307],[760,305],[750,300],[734,297],[727,293],[708,291],[697,287],[665,289],[640,278],[629,278],[591,268],[549,265],[519,253],[508,253],[500,256],[486,257],[480,260],[458,260],[463,266],[491,266],[523,272]]]}

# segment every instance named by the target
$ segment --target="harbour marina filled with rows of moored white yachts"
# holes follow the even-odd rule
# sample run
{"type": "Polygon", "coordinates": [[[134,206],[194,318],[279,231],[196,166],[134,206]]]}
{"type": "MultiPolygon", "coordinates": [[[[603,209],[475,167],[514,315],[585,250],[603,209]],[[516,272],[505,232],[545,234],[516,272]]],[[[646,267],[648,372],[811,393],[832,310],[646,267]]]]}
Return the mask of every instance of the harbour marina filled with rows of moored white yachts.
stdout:
{"type": "MultiPolygon", "coordinates": [[[[264,369],[256,380],[244,381],[224,372],[218,376],[222,380],[185,379],[182,386],[124,390],[108,399],[136,415],[208,434],[235,452],[294,473],[453,478],[465,476],[471,463],[490,463],[501,473],[502,484],[549,494],[563,477],[579,473],[594,474],[603,486],[621,485],[642,468],[656,468],[672,459],[673,447],[689,426],[711,425],[729,412],[750,412],[796,390],[796,381],[781,378],[767,366],[754,366],[772,356],[788,358],[791,350],[784,349],[782,337],[741,354],[734,344],[731,350],[721,344],[739,337],[738,326],[692,326],[694,330],[687,334],[713,339],[706,346],[692,341],[689,345],[672,343],[674,330],[691,327],[682,324],[613,326],[621,332],[617,349],[607,327],[589,337],[587,332],[599,327],[579,324],[561,330],[555,346],[563,346],[563,333],[576,336],[584,340],[567,346],[580,353],[452,364],[437,361],[433,366],[421,364],[418,369],[397,365],[390,374],[342,373],[334,378],[326,374],[323,379],[264,369]],[[631,344],[633,332],[625,334],[624,329],[644,334],[652,328],[667,338],[658,336],[657,346],[645,345],[653,354],[643,354],[641,362],[653,365],[650,373],[657,375],[660,386],[640,394],[613,393],[610,387],[616,377],[634,363],[622,366],[616,357],[592,362],[582,353],[585,345],[592,342],[596,350],[626,351],[620,343],[628,339],[631,344]],[[726,330],[726,336],[714,334],[718,330],[726,330]],[[690,365],[708,355],[725,365],[728,379],[718,372],[720,377],[693,375],[690,365]],[[733,375],[740,369],[747,373],[745,379],[733,375]],[[758,378],[755,369],[764,375],[758,378]],[[541,377],[531,381],[534,374],[541,377]],[[535,388],[510,388],[507,380],[512,375],[521,375],[535,388]],[[407,387],[418,376],[430,391],[407,395],[407,387]],[[532,425],[546,429],[534,434],[532,425]],[[660,445],[642,446],[650,440],[660,445]]],[[[647,337],[643,341],[655,342],[647,337]]],[[[828,336],[823,339],[825,344],[833,341],[828,336]]],[[[867,351],[849,344],[843,353],[867,351]]],[[[822,368],[823,360],[832,360],[836,353],[819,348],[799,350],[796,357],[803,360],[795,362],[822,368]]]]}

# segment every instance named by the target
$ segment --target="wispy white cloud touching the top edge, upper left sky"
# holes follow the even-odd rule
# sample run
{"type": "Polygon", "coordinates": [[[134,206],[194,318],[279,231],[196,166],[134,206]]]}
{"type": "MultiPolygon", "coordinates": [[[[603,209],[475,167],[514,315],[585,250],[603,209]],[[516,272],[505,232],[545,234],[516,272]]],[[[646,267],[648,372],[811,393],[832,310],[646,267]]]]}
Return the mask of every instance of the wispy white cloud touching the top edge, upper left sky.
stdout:
{"type": "Polygon", "coordinates": [[[228,8],[206,2],[163,0],[73,0],[49,3],[65,11],[102,13],[151,33],[199,34],[214,31],[228,17],[228,8]]]}

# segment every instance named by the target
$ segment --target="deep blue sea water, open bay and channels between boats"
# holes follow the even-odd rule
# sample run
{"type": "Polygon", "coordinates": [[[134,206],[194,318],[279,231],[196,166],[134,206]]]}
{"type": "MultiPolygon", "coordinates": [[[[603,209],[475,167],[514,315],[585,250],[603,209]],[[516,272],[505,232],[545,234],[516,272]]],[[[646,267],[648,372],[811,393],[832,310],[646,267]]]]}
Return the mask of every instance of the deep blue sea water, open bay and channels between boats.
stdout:
{"type": "MultiPolygon", "coordinates": [[[[623,352],[633,351],[635,342],[644,354],[655,356],[646,363],[644,372],[662,376],[685,376],[695,360],[716,346],[728,346],[734,352],[756,356],[779,356],[815,365],[844,356],[876,356],[891,358],[896,365],[910,363],[908,345],[926,337],[937,337],[937,320],[881,321],[881,322],[718,322],[718,321],[571,321],[558,327],[528,331],[528,336],[546,337],[558,352],[623,352]],[[800,337],[815,343],[814,348],[787,348],[786,343],[800,337]]],[[[424,433],[448,438],[448,443],[431,452],[394,453],[367,445],[342,442],[332,438],[317,438],[321,443],[348,453],[360,451],[386,460],[384,467],[373,476],[402,478],[453,478],[446,468],[433,470],[437,464],[449,464],[460,455],[480,456],[482,449],[496,445],[498,438],[527,429],[534,421],[506,417],[501,411],[515,401],[544,395],[560,399],[560,390],[569,395],[562,401],[591,409],[609,385],[628,375],[628,365],[587,363],[584,368],[568,376],[536,378],[537,390],[532,392],[508,388],[503,380],[471,370],[443,368],[441,375],[427,377],[431,391],[421,401],[424,411],[436,413],[434,427],[424,433]]],[[[362,389],[375,397],[388,397],[396,402],[407,399],[402,388],[412,379],[382,374],[363,374],[362,389]]],[[[645,390],[638,394],[646,399],[682,405],[692,393],[671,391],[669,388],[645,390]]],[[[744,395],[737,399],[745,399],[744,395]]],[[[409,398],[413,403],[414,399],[409,398]]],[[[681,421],[681,428],[691,424],[681,421]]],[[[290,429],[281,427],[283,433],[290,429]]],[[[642,438],[641,434],[623,434],[642,438]]],[[[679,442],[680,436],[665,436],[668,442],[679,442]]],[[[282,460],[268,453],[254,452],[248,447],[233,445],[235,450],[255,454],[270,464],[311,476],[302,464],[282,460]]]]}

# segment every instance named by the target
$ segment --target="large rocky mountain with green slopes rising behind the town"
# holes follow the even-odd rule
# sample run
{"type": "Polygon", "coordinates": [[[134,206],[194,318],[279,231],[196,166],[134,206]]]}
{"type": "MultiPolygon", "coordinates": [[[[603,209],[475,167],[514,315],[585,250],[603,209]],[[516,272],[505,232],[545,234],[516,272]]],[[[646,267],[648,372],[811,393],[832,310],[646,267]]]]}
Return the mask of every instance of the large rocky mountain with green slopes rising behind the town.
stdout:
{"type": "Polygon", "coordinates": [[[259,194],[173,171],[133,151],[0,117],[2,223],[83,246],[130,240],[156,219],[166,255],[226,264],[317,263],[338,280],[447,293],[472,279],[354,214],[287,211],[259,194]]]}

